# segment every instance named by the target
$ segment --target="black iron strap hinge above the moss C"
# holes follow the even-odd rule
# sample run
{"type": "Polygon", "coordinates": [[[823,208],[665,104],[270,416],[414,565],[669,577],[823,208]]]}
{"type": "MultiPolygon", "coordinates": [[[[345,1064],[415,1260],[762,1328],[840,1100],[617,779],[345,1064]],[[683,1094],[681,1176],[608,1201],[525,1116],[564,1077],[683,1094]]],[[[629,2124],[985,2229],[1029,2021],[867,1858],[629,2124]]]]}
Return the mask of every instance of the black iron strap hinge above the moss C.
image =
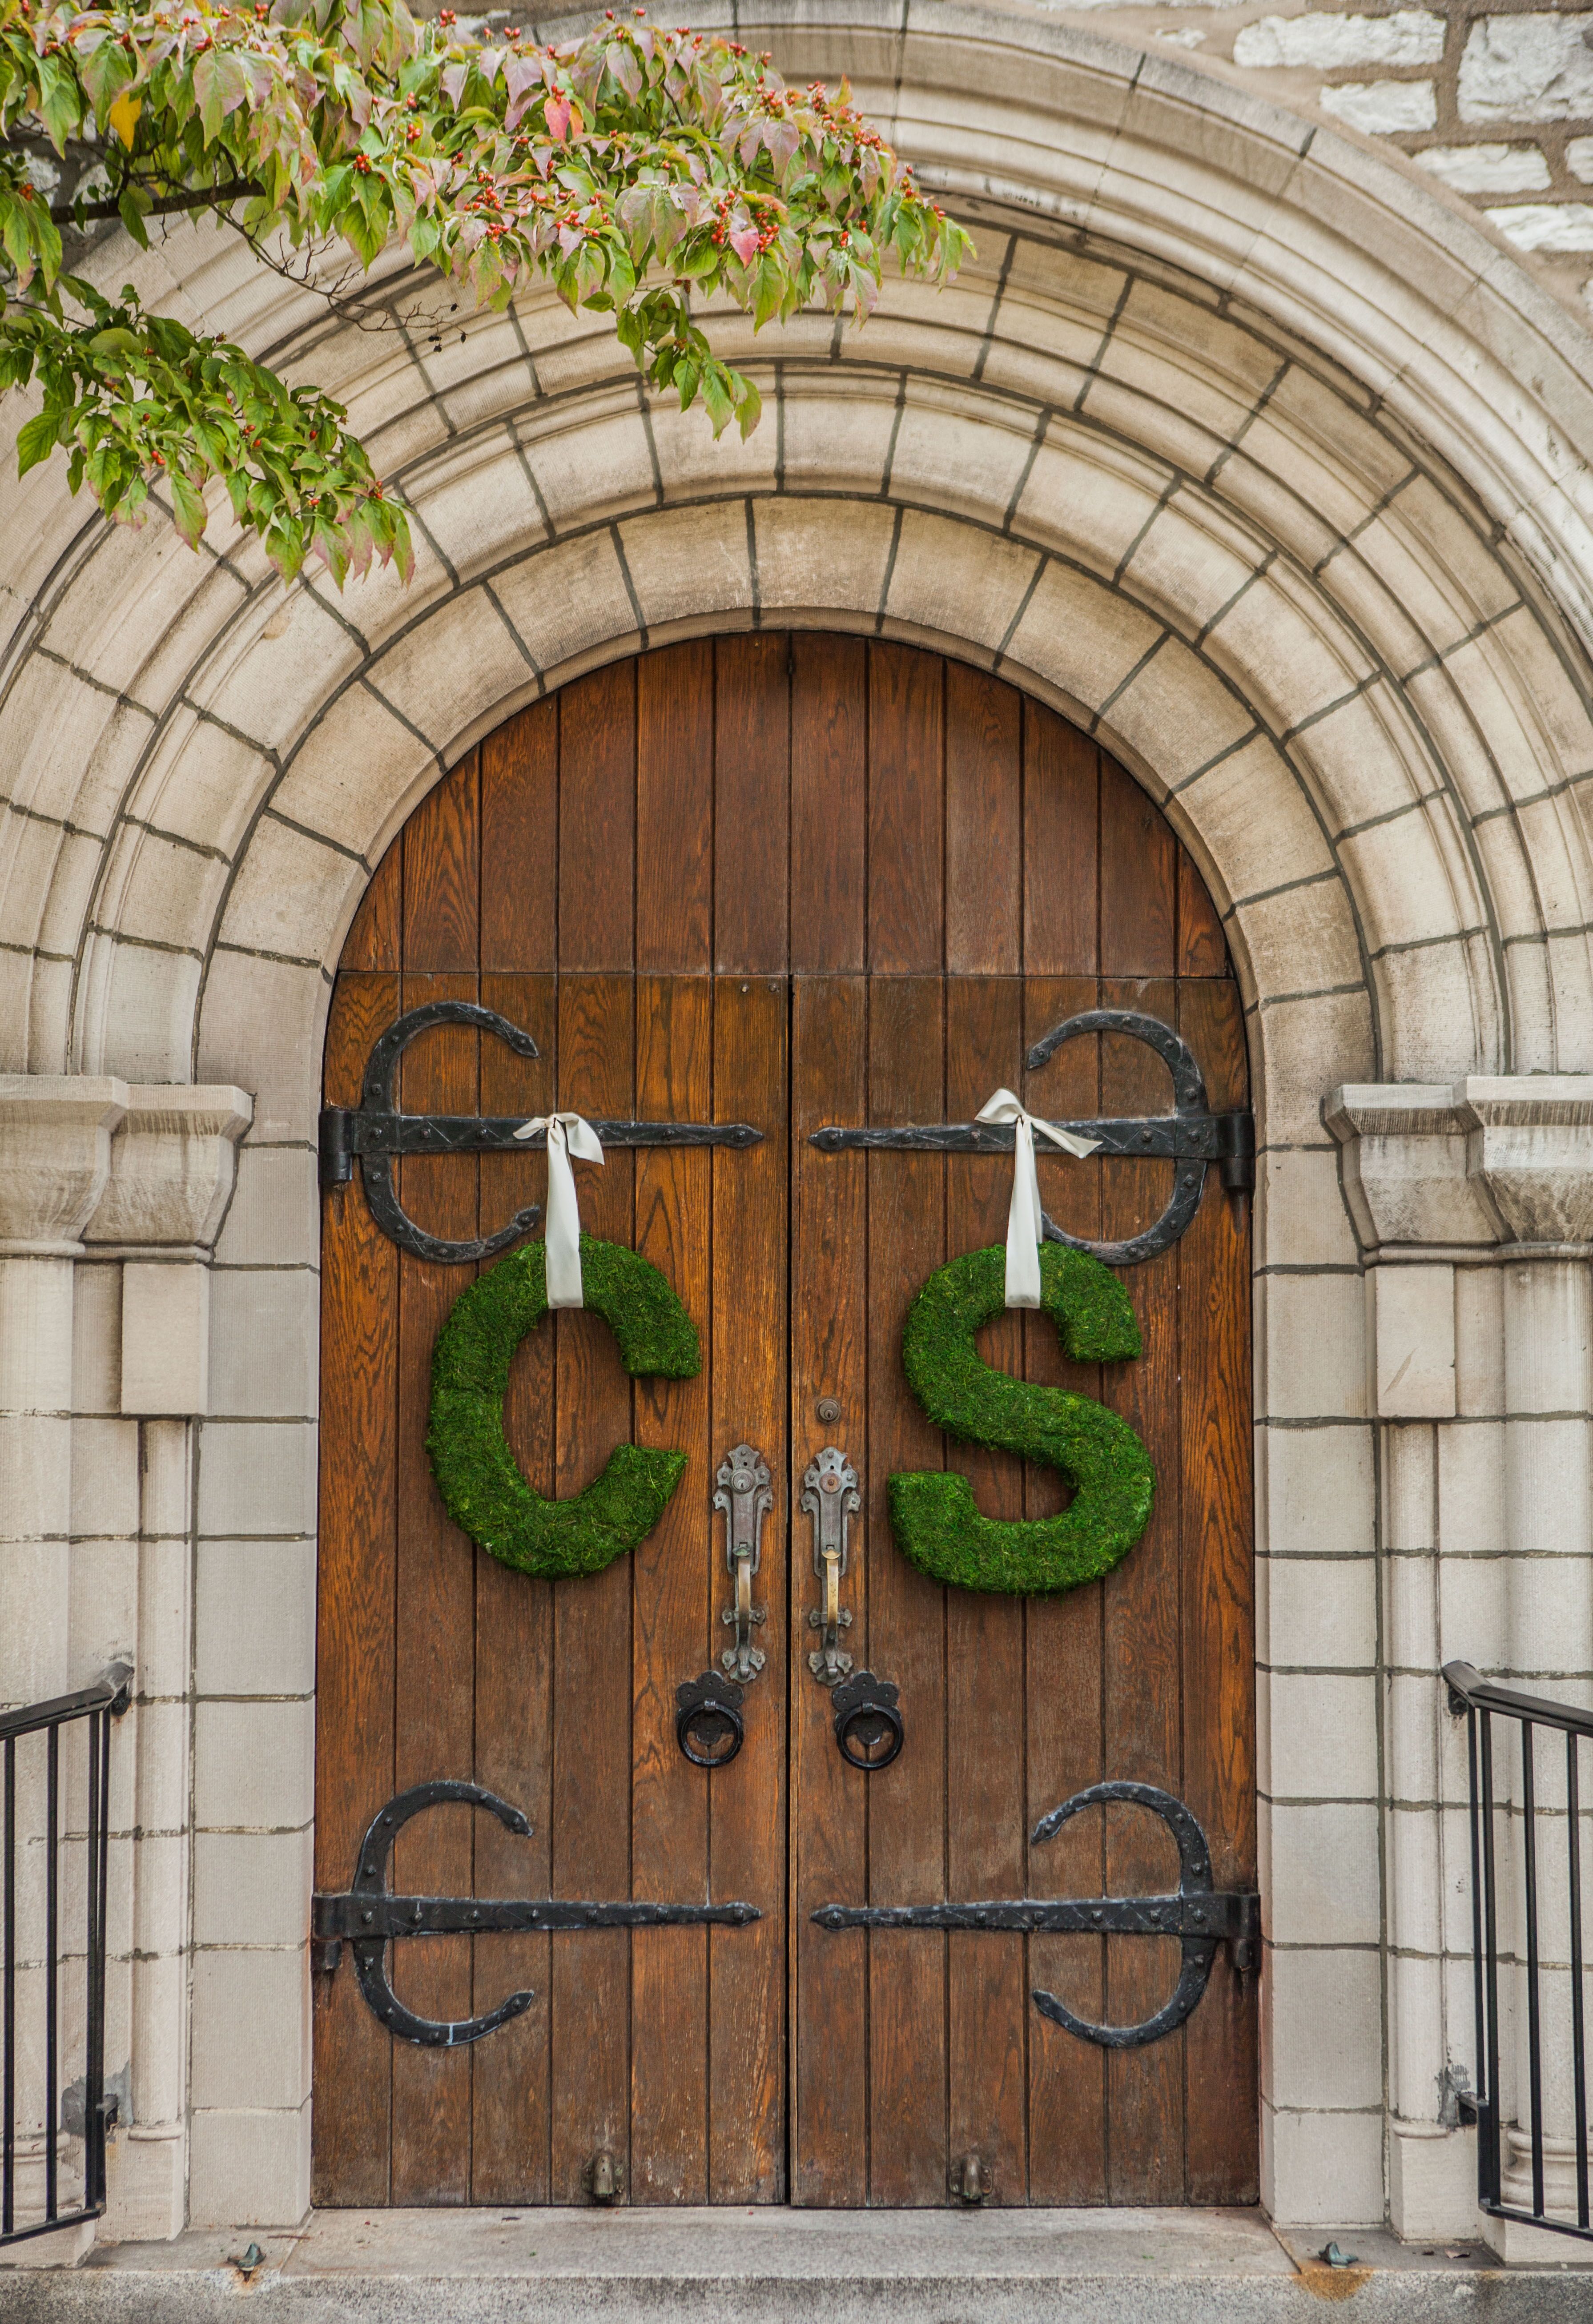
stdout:
{"type": "MultiPolygon", "coordinates": [[[[398,1195],[393,1192],[395,1155],[470,1155],[470,1153],[535,1153],[547,1146],[547,1132],[521,1136],[523,1113],[400,1113],[393,1097],[398,1060],[435,1025],[474,1025],[507,1041],[516,1057],[537,1057],[537,1043],[495,1009],[477,1002],[428,1002],[409,1009],[374,1041],[365,1060],[365,1081],[358,1109],[321,1106],[321,1185],[347,1185],[353,1176],[353,1157],[360,1157],[365,1178],[365,1202],[381,1232],[409,1250],[416,1260],[433,1260],[442,1267],[463,1267],[474,1260],[495,1260],[500,1250],[516,1243],[542,1218],[542,1204],[533,1202],[516,1211],[507,1227],[481,1234],[472,1241],[449,1241],[416,1227],[398,1195]]],[[[593,1120],[593,1129],[605,1146],[756,1146],[763,1139],[751,1122],[619,1122],[593,1120]]]]}

